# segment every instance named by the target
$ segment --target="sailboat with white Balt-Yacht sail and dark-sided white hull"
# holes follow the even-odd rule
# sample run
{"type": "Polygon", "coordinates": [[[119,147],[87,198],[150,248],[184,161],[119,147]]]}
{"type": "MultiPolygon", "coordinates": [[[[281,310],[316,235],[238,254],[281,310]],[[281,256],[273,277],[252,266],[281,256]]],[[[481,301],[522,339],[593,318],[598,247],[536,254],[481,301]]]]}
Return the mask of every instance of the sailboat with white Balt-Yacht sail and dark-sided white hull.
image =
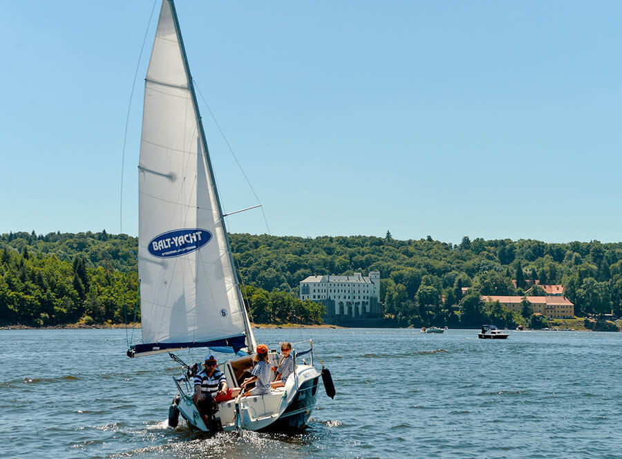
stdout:
{"type": "MultiPolygon", "coordinates": [[[[228,350],[236,357],[218,369],[235,393],[252,368],[256,341],[238,284],[172,0],[162,1],[145,78],[138,169],[142,344],[131,346],[127,355],[187,348],[228,350]]],[[[332,386],[327,380],[330,373],[325,368],[320,373],[313,365],[312,345],[312,341],[294,344],[294,373],[284,386],[273,387],[266,395],[238,395],[218,404],[218,428],[241,432],[303,427],[316,402],[319,377],[326,387],[332,386]]],[[[173,378],[178,394],[169,412],[178,411],[191,427],[213,431],[192,400],[193,366],[172,353],[171,357],[185,371],[173,378]]],[[[276,366],[276,350],[268,357],[276,366]]]]}

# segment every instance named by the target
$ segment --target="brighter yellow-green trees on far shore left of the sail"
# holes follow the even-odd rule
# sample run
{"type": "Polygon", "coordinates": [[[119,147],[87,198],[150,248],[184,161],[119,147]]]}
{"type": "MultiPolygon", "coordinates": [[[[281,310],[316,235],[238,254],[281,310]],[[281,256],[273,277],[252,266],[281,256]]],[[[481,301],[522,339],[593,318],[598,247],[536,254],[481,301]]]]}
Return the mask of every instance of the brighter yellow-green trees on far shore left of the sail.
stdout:
{"type": "MultiPolygon", "coordinates": [[[[92,268],[83,254],[67,254],[62,260],[55,254],[37,252],[33,245],[44,243],[37,236],[26,236],[33,239],[32,245],[23,245],[26,239],[21,233],[3,235],[7,243],[19,247],[12,250],[5,245],[0,249],[1,325],[54,326],[80,319],[85,323],[118,323],[122,322],[124,305],[134,308],[136,272],[113,270],[111,263],[92,268]]],[[[64,242],[73,243],[70,238],[64,242]]]]}

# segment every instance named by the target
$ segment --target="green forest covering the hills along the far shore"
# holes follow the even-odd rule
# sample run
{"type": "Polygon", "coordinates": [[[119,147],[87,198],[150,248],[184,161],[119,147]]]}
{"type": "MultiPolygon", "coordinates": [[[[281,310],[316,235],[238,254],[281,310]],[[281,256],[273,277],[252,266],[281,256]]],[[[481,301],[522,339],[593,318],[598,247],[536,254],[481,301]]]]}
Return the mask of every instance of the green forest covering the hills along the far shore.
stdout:
{"type": "MultiPolygon", "coordinates": [[[[478,327],[545,322],[481,295],[523,295],[534,281],[561,284],[575,315],[622,315],[622,243],[510,239],[460,244],[431,236],[230,234],[243,294],[258,323],[319,324],[323,306],[298,299],[309,275],[379,271],[388,324],[478,327]],[[516,286],[515,286],[516,284],[516,286]],[[466,290],[464,288],[469,288],[466,290]]],[[[132,321],[138,297],[138,239],[106,231],[34,231],[0,236],[0,325],[54,326],[132,321]]],[[[529,294],[538,294],[534,287],[529,294]]],[[[140,319],[140,312],[136,316],[140,319]]]]}

